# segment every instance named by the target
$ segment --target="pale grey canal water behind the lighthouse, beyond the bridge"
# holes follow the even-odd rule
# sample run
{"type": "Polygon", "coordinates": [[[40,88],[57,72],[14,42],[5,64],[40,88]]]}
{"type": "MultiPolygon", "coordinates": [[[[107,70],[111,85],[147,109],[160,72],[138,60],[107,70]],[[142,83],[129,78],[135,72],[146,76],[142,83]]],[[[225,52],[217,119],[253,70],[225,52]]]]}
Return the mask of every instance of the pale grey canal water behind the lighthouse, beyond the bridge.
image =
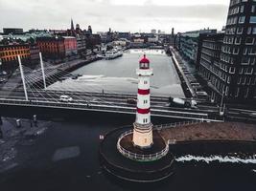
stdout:
{"type": "Polygon", "coordinates": [[[151,94],[184,97],[173,61],[163,50],[128,50],[122,57],[98,60],[74,71],[82,75],[78,79],[58,81],[48,89],[136,94],[136,69],[144,53],[153,69],[151,94]]]}

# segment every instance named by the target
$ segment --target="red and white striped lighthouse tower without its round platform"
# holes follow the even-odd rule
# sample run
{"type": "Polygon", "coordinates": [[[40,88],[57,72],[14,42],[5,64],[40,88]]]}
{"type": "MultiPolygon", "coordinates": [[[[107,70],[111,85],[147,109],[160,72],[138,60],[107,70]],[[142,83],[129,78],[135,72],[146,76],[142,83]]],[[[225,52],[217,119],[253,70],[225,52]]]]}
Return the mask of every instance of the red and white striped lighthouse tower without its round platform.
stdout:
{"type": "Polygon", "coordinates": [[[133,144],[140,148],[149,148],[152,145],[152,123],[151,123],[151,91],[150,77],[152,69],[150,60],[144,54],[139,62],[138,95],[136,121],[133,123],[133,144]]]}

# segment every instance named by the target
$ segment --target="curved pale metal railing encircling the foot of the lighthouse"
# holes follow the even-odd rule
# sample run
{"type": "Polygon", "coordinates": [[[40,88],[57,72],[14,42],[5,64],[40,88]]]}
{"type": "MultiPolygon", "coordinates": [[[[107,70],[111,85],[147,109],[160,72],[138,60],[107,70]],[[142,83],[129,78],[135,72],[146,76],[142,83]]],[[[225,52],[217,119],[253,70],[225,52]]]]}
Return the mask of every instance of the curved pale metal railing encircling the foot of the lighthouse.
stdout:
{"type": "Polygon", "coordinates": [[[132,134],[133,130],[129,130],[125,133],[123,133],[117,141],[117,149],[118,151],[125,156],[128,159],[134,159],[134,160],[139,160],[139,161],[152,161],[152,160],[157,160],[157,159],[161,159],[164,156],[166,156],[169,152],[169,144],[166,144],[166,147],[160,151],[157,152],[155,154],[150,154],[150,155],[141,155],[141,154],[136,154],[133,152],[128,151],[127,149],[125,149],[124,147],[121,146],[120,142],[123,138],[125,138],[126,136],[132,134]]]}

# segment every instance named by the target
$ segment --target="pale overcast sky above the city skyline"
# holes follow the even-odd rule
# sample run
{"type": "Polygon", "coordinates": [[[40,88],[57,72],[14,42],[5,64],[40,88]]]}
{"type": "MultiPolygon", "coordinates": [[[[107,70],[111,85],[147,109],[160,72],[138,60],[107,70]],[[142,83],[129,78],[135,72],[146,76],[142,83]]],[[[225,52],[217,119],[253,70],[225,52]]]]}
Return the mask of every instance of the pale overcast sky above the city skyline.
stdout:
{"type": "Polygon", "coordinates": [[[228,5],[229,0],[0,0],[0,29],[66,30],[72,17],[93,32],[221,30],[228,5]]]}

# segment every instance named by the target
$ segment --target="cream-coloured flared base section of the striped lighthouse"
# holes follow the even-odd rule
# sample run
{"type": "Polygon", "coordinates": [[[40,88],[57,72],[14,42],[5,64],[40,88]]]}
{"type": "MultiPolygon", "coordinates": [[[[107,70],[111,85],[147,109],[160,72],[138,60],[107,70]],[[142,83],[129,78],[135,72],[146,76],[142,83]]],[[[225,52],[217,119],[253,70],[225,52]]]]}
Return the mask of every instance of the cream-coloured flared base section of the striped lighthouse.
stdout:
{"type": "Polygon", "coordinates": [[[133,145],[141,149],[150,148],[153,144],[152,141],[152,124],[141,125],[133,123],[133,145]]]}

